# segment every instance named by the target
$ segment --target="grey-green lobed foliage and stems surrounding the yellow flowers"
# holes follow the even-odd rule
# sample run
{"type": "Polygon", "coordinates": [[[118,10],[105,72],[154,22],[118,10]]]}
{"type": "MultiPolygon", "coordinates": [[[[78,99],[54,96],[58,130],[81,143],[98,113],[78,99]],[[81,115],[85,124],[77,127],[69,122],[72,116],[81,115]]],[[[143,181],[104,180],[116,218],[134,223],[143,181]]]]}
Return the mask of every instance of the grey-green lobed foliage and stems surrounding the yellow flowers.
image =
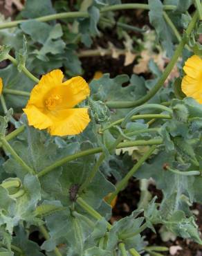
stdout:
{"type": "Polygon", "coordinates": [[[188,15],[191,5],[149,0],[149,30],[128,26],[123,16],[116,23],[118,10],[145,8],[119,0],[75,1],[74,12],[67,1],[27,0],[17,24],[2,19],[0,61],[11,63],[0,70],[0,255],[139,255],[149,253],[143,231],[156,232],[156,225],[202,244],[190,210],[202,203],[202,105],[181,91],[185,60],[201,55],[201,24],[188,15]],[[82,57],[103,54],[101,46],[89,48],[107,29],[125,48],[110,44],[104,55],[123,54],[126,66],[135,58],[144,65],[140,75],[105,73],[89,82],[91,95],[78,106],[89,106],[91,116],[82,134],[50,136],[30,127],[22,109],[37,77],[54,68],[67,78],[86,75],[82,57]],[[166,60],[160,65],[156,50],[166,60]],[[111,224],[110,203],[132,176],[152,178],[163,199],[152,199],[146,185],[141,207],[111,224]]]}

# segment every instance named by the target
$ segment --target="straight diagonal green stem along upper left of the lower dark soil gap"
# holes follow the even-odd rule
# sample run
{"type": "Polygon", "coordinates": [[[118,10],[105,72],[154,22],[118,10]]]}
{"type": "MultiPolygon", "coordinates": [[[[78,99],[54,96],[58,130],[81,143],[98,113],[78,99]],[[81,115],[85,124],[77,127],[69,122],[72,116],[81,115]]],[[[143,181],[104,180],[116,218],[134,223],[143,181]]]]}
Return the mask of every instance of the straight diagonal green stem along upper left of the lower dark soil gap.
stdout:
{"type": "Polygon", "coordinates": [[[134,167],[132,167],[132,169],[127,173],[127,175],[117,183],[116,185],[116,190],[111,193],[111,195],[109,196],[109,199],[107,199],[107,203],[111,203],[111,201],[113,201],[113,199],[116,197],[116,195],[123,189],[125,188],[125,185],[127,184],[127,182],[129,181],[129,179],[131,179],[132,176],[134,176],[135,172],[137,172],[137,170],[140,168],[141,165],[143,165],[143,163],[147,160],[147,158],[149,156],[151,156],[151,154],[154,152],[154,150],[156,149],[156,145],[153,145],[138,161],[138,163],[136,163],[136,165],[134,165],[134,167]]]}

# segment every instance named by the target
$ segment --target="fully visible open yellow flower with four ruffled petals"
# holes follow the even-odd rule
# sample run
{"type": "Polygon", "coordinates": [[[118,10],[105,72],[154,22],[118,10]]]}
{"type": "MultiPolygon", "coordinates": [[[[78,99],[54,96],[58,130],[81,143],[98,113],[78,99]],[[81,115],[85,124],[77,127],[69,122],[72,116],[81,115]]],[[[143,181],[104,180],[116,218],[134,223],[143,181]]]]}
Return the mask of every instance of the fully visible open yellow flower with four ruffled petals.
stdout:
{"type": "Polygon", "coordinates": [[[88,108],[75,108],[90,95],[89,85],[82,77],[62,82],[59,69],[42,76],[33,91],[24,112],[28,124],[48,129],[50,135],[80,134],[90,122],[88,108]]]}

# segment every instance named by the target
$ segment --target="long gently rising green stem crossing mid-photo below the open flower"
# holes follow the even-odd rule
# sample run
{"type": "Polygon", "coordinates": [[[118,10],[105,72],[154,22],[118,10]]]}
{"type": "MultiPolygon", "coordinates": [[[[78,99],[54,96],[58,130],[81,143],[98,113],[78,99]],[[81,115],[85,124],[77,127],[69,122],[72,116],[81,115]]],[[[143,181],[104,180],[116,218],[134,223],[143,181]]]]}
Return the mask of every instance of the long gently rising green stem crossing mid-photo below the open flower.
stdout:
{"type": "MultiPolygon", "coordinates": [[[[152,140],[136,140],[136,141],[125,141],[124,143],[119,143],[116,148],[124,148],[124,147],[134,147],[134,146],[142,146],[142,145],[160,145],[163,143],[163,140],[161,138],[156,138],[152,140]]],[[[62,158],[61,160],[53,163],[53,165],[49,165],[48,167],[44,168],[41,172],[39,172],[38,177],[44,176],[45,174],[48,174],[48,172],[51,172],[55,168],[64,165],[64,163],[68,163],[76,158],[80,158],[83,156],[89,156],[91,154],[97,154],[102,152],[102,147],[95,147],[93,149],[87,149],[82,152],[75,153],[70,156],[66,156],[62,158]]]]}

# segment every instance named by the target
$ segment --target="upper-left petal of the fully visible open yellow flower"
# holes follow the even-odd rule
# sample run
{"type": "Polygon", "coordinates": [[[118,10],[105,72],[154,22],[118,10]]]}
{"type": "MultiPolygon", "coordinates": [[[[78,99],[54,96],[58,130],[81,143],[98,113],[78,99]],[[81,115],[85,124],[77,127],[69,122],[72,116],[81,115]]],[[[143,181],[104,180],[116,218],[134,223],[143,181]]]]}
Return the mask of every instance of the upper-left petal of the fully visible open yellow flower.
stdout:
{"type": "Polygon", "coordinates": [[[55,69],[46,75],[43,75],[39,84],[37,84],[30,93],[30,100],[28,104],[34,104],[35,107],[44,108],[44,98],[51,89],[61,86],[63,80],[63,73],[59,69],[55,69]]]}

